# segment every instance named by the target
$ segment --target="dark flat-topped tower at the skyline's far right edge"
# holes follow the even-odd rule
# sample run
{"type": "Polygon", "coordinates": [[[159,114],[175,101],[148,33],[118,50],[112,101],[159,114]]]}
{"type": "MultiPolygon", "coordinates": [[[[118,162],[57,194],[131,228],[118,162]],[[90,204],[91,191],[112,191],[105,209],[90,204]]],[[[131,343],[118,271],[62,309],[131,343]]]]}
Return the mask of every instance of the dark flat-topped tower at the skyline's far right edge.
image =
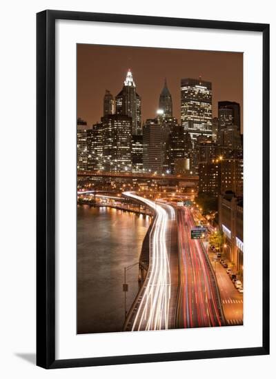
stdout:
{"type": "Polygon", "coordinates": [[[219,101],[219,129],[226,125],[237,125],[239,133],[241,133],[241,110],[239,103],[235,101],[219,101]]]}

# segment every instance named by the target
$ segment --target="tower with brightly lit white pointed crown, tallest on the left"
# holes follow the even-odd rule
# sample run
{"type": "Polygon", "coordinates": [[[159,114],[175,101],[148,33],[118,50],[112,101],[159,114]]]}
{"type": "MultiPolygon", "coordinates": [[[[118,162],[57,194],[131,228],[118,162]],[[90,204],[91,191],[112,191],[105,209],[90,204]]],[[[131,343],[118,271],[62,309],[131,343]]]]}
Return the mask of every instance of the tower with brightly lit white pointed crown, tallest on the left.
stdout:
{"type": "Polygon", "coordinates": [[[126,74],[123,89],[116,96],[116,113],[132,117],[132,134],[141,134],[141,97],[136,92],[130,69],[126,74]]]}

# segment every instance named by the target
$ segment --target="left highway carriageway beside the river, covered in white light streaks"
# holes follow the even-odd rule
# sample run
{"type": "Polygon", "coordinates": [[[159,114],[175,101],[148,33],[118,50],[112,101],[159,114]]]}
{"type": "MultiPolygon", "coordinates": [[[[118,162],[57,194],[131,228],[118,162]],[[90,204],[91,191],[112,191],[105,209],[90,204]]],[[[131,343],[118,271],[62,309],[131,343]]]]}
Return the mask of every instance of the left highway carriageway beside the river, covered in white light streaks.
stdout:
{"type": "Polygon", "coordinates": [[[132,311],[130,330],[172,329],[175,327],[179,276],[175,209],[171,205],[155,203],[132,192],[124,192],[123,195],[155,210],[150,231],[148,274],[135,310],[132,311]],[[174,235],[175,238],[172,239],[174,235]]]}

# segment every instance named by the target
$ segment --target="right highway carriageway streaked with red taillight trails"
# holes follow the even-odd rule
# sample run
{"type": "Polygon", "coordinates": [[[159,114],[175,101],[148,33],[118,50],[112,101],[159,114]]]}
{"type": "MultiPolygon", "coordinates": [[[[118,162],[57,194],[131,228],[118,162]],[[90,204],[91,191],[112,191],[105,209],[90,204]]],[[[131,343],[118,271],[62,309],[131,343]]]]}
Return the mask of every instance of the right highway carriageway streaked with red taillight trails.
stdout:
{"type": "Polygon", "coordinates": [[[177,210],[180,285],[177,327],[225,325],[215,274],[201,240],[190,238],[195,226],[188,207],[177,210]]]}

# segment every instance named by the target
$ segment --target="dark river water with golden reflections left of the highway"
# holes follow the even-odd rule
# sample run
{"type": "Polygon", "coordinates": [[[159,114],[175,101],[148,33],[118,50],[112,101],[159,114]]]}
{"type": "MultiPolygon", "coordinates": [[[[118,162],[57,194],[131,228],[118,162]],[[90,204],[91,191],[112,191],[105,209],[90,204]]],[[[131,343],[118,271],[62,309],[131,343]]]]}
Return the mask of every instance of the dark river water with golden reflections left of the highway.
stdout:
{"type": "MultiPolygon", "coordinates": [[[[77,208],[77,332],[120,331],[124,267],[138,262],[150,218],[107,207],[77,208]]],[[[127,306],[138,289],[138,266],[127,272],[127,306]]]]}

